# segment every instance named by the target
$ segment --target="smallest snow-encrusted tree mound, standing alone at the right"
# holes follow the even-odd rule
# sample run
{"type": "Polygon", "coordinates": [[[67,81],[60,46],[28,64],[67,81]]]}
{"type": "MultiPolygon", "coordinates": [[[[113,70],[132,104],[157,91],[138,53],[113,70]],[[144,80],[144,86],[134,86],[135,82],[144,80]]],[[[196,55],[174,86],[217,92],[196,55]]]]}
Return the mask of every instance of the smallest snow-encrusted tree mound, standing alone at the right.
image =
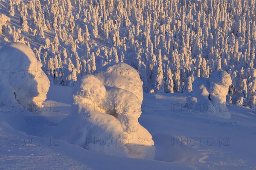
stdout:
{"type": "Polygon", "coordinates": [[[216,71],[211,78],[198,77],[189,93],[191,96],[186,98],[189,109],[230,119],[231,114],[225,102],[231,83],[230,74],[226,71],[216,71]]]}

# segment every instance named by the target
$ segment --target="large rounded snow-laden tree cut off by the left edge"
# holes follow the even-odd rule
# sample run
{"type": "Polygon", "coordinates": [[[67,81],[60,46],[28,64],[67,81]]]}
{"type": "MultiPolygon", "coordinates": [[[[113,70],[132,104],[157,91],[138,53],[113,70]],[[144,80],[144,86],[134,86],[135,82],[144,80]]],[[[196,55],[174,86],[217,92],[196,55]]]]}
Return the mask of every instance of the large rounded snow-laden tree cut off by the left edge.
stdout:
{"type": "Polygon", "coordinates": [[[0,54],[1,109],[42,111],[42,102],[49,90],[49,79],[41,69],[42,63],[27,45],[21,43],[3,46],[0,54]]]}

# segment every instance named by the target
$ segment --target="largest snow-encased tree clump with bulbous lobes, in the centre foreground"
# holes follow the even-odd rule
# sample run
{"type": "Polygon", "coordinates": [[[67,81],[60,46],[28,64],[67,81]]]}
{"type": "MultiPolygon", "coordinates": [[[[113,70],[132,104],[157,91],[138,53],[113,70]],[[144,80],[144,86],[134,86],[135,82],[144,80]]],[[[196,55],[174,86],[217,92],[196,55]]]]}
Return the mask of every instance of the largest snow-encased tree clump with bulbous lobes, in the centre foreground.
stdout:
{"type": "Polygon", "coordinates": [[[73,128],[64,138],[97,153],[154,159],[152,136],[138,122],[143,83],[134,74],[137,71],[117,63],[95,73],[97,77],[86,75],[73,88],[73,114],[61,122],[60,129],[67,124],[73,128]]]}

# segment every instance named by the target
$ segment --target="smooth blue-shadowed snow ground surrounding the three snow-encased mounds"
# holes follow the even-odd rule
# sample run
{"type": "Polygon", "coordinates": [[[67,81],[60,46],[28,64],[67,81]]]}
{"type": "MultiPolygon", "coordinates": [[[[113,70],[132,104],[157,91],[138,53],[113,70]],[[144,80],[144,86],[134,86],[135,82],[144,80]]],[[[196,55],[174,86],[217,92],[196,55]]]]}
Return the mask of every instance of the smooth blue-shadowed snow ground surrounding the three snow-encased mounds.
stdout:
{"type": "Polygon", "coordinates": [[[231,104],[231,119],[222,119],[184,108],[185,94],[144,94],[139,122],[153,136],[156,155],[133,159],[93,153],[50,135],[71,112],[71,91],[51,85],[40,114],[1,111],[0,169],[256,168],[253,110],[231,104]]]}

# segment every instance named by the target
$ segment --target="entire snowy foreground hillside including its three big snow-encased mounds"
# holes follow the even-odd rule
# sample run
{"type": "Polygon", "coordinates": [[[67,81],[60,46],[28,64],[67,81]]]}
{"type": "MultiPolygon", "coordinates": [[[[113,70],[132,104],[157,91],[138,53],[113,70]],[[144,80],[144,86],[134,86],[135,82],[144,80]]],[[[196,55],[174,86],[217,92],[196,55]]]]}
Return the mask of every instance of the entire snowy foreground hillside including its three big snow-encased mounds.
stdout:
{"type": "Polygon", "coordinates": [[[9,71],[0,79],[1,169],[256,167],[256,113],[225,102],[225,71],[195,79],[184,94],[143,94],[139,73],[124,62],[72,87],[49,87],[28,46],[12,43],[0,54],[9,71]]]}

